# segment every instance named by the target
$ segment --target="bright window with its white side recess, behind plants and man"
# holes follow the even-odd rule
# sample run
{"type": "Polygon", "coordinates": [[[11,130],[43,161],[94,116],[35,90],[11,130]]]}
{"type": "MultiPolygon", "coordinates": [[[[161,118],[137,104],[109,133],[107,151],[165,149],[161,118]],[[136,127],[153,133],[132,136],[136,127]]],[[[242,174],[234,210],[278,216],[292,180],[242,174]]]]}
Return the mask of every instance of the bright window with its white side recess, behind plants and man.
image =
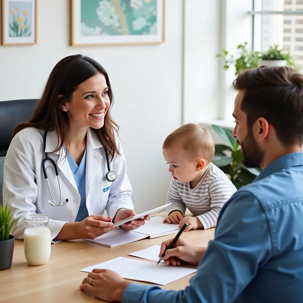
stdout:
{"type": "MultiPolygon", "coordinates": [[[[291,53],[295,65],[303,73],[303,0],[225,1],[222,16],[226,21],[221,29],[222,45],[231,54],[235,55],[237,46],[244,42],[259,52],[280,45],[291,53]]],[[[231,87],[235,79],[234,68],[222,70],[221,79],[218,117],[231,121],[236,95],[231,87]]]]}

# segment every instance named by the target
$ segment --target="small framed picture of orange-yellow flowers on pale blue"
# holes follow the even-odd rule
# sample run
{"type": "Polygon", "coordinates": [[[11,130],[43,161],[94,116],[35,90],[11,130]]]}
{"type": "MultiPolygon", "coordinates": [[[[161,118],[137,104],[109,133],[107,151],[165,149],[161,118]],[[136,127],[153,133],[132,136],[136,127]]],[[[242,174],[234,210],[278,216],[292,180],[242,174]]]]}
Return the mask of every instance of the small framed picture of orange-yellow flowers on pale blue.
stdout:
{"type": "Polygon", "coordinates": [[[2,0],[2,45],[37,43],[37,0],[2,0]]]}

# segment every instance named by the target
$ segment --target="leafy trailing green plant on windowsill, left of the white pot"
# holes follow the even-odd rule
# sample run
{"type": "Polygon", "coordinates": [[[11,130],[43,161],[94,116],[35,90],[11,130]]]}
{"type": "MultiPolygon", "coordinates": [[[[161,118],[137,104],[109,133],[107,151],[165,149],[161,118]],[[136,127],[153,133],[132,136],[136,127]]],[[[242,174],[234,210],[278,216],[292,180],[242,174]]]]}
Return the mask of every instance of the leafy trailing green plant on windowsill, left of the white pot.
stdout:
{"type": "Polygon", "coordinates": [[[239,44],[237,49],[237,55],[231,55],[225,49],[222,50],[222,54],[216,55],[216,57],[224,59],[223,68],[225,70],[228,70],[231,65],[235,64],[235,75],[238,75],[238,73],[244,71],[245,69],[258,67],[258,59],[260,57],[259,52],[249,49],[247,47],[247,42],[244,44],[239,44]]]}

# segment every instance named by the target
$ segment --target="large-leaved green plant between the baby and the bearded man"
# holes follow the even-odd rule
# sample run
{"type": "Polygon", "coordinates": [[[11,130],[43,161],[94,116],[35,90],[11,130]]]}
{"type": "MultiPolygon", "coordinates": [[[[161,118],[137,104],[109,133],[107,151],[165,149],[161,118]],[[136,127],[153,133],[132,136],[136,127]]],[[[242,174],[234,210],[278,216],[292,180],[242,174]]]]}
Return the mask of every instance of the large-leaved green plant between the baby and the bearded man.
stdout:
{"type": "Polygon", "coordinates": [[[232,131],[218,125],[211,125],[215,132],[227,143],[215,145],[215,155],[212,163],[217,165],[230,178],[237,189],[251,183],[260,174],[260,169],[246,168],[242,164],[241,147],[232,131]]]}

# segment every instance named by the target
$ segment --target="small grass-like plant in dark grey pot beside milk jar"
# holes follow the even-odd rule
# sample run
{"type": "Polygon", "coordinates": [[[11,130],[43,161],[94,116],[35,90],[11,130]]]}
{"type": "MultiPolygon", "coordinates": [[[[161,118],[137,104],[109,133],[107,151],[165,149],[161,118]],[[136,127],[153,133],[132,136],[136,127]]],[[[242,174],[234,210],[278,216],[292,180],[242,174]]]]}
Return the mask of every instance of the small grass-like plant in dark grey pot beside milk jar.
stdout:
{"type": "Polygon", "coordinates": [[[0,270],[8,269],[12,266],[15,237],[10,234],[16,219],[12,220],[12,211],[0,204],[0,270]]]}

